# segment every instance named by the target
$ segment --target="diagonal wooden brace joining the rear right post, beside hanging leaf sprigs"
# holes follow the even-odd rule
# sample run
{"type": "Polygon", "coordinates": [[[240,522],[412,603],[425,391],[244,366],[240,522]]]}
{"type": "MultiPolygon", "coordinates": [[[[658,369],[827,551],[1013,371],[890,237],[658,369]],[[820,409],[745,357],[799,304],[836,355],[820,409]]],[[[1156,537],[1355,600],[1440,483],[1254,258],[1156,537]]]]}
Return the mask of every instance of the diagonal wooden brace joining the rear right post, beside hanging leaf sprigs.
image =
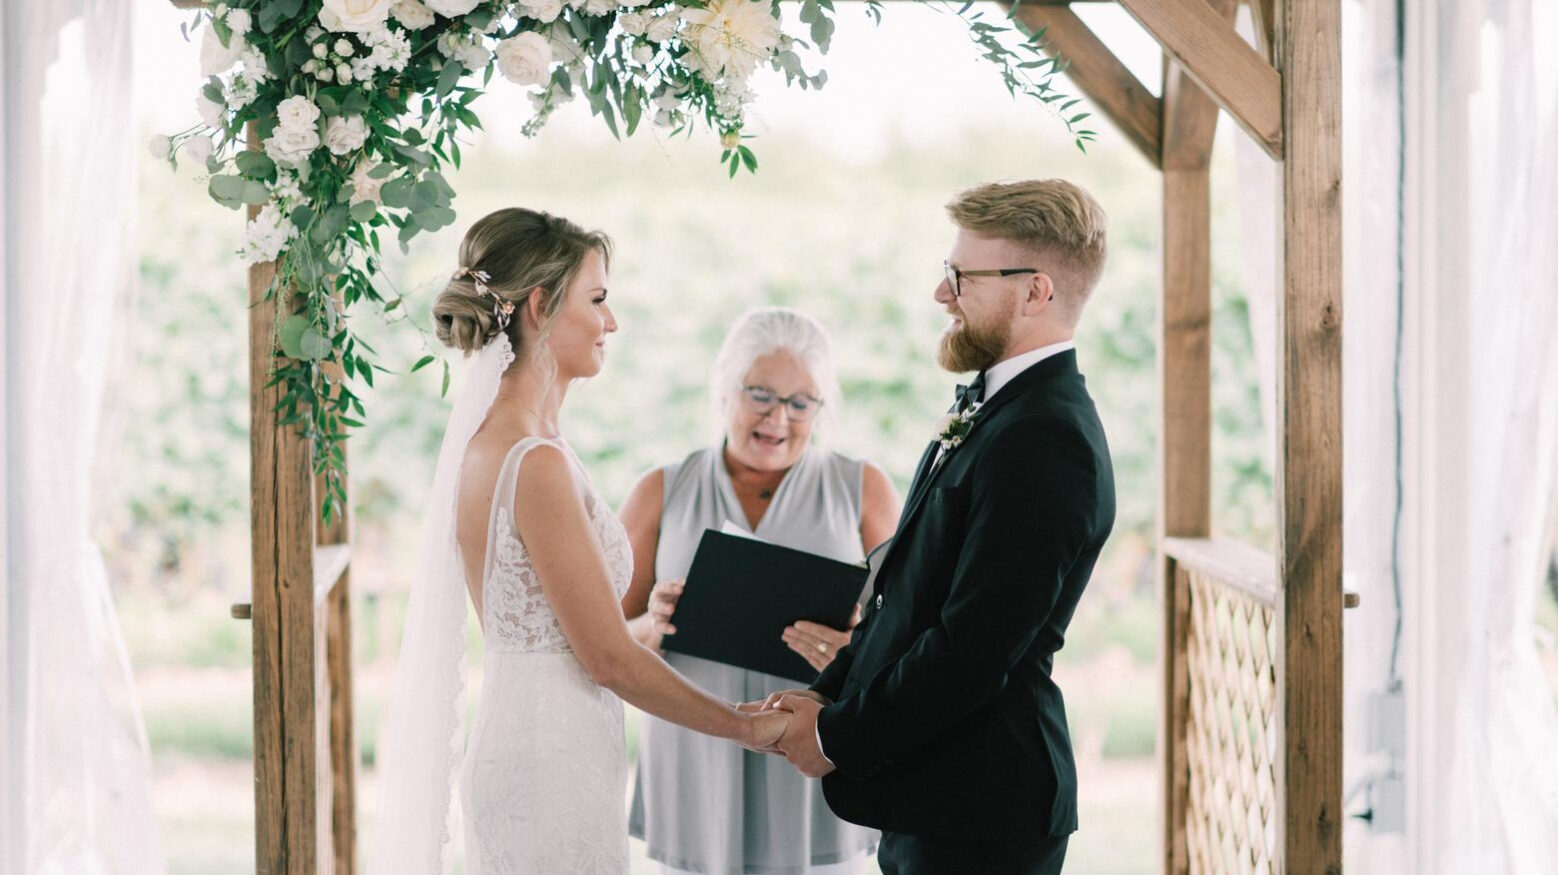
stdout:
{"type": "MultiPolygon", "coordinates": [[[[1011,5],[1002,0],[1002,6],[1010,9],[1011,5]]],[[[1066,75],[1072,83],[1077,83],[1081,93],[1153,167],[1159,167],[1162,103],[1077,17],[1077,12],[1066,6],[1044,6],[1022,0],[1013,20],[1030,36],[1044,31],[1044,40],[1053,48],[1053,54],[1066,59],[1066,75]]]]}

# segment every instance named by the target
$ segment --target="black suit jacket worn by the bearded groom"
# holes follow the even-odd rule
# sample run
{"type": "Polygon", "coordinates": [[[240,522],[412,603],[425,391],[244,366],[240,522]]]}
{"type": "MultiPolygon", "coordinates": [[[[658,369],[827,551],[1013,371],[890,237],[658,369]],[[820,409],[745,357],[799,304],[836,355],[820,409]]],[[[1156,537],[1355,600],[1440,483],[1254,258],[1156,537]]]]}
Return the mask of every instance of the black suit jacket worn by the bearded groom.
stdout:
{"type": "Polygon", "coordinates": [[[874,598],[812,685],[843,819],[1005,841],[1077,830],[1055,651],[1114,525],[1114,470],[1077,353],[1033,364],[963,445],[921,459],[874,598]]]}

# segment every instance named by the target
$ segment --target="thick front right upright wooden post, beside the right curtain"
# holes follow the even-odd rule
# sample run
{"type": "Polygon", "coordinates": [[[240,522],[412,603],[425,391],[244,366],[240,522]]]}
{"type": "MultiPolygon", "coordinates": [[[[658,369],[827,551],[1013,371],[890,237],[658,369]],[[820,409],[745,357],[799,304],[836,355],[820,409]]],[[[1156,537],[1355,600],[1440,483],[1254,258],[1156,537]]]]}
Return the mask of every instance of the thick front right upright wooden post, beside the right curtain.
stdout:
{"type": "Polygon", "coordinates": [[[1281,845],[1341,872],[1341,9],[1281,0],[1281,845]]]}

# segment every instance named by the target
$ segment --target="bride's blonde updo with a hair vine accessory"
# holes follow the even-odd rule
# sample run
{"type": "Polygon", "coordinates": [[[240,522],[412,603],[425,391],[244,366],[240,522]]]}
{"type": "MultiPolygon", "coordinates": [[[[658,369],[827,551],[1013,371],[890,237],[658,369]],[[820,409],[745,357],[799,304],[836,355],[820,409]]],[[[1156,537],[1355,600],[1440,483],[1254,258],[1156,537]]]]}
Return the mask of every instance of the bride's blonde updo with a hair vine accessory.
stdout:
{"type": "Polygon", "coordinates": [[[522,207],[488,213],[460,241],[460,268],[433,300],[438,339],[471,355],[505,330],[516,358],[525,358],[531,350],[522,349],[519,325],[530,296],[539,294],[541,332],[534,343],[544,349],[569,285],[590,252],[600,252],[611,266],[611,238],[600,230],[522,207]],[[478,291],[478,282],[486,294],[478,291]],[[499,327],[500,300],[514,305],[505,329],[499,327]]]}

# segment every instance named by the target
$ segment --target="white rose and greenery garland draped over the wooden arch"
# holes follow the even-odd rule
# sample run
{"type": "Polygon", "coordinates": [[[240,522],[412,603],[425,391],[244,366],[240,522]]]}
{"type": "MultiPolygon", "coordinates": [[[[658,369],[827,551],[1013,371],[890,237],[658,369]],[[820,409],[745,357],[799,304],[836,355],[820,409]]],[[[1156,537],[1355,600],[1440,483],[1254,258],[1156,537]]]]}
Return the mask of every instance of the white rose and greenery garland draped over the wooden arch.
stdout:
{"type": "MultiPolygon", "coordinates": [[[[757,170],[742,142],[753,72],[771,67],[802,89],[827,81],[802,53],[827,51],[834,3],[799,3],[804,34],[784,33],[779,0],[229,0],[184,25],[185,36],[204,28],[201,123],[153,137],[151,151],[204,165],[218,204],[257,207],[240,254],[276,263],[266,299],[280,308],[279,423],[313,445],[326,518],[346,500],[341,442],[366,420],[351,386],[390,372],[343,316],[402,304],[374,283],[382,235],[404,249],[455,221],[442,170],[460,167],[460,134],[481,128],[472,103],[494,69],[530,92],[527,135],[583,97],[617,137],[645,120],[671,134],[701,121],[735,176],[757,170]]],[[[877,0],[866,11],[880,20],[877,0]]],[[[1053,89],[1064,62],[1042,33],[988,22],[972,3],[947,11],[1014,97],[1049,106],[1078,148],[1094,139],[1078,128],[1086,112],[1066,115],[1078,101],[1053,89]]],[[[410,371],[435,361],[424,355],[410,371]]],[[[442,371],[447,391],[447,361],[442,371]]]]}

